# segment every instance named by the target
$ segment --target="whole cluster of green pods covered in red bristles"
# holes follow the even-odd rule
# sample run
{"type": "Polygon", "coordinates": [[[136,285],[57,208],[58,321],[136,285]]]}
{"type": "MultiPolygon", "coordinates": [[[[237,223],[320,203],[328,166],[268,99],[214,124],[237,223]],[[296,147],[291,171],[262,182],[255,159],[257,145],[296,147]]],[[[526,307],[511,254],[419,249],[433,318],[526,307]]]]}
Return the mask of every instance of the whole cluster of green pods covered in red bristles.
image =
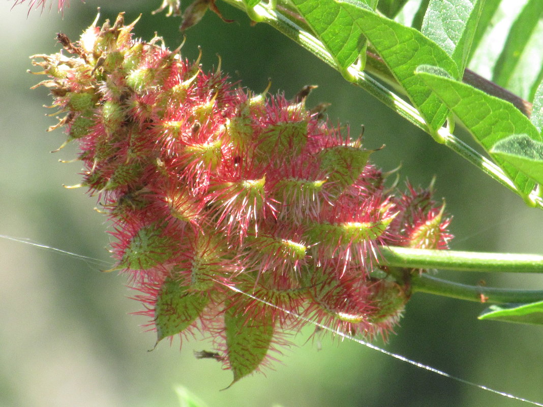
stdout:
{"type": "Polygon", "coordinates": [[[303,94],[233,87],[157,39],[133,40],[134,24],[121,14],[77,43],[61,36],[71,55],[34,65],[157,342],[209,334],[237,381],[304,325],[296,315],[386,336],[409,288],[372,274],[379,248],[445,249],[443,207],[411,186],[384,190],[372,151],[306,110],[303,94]]]}

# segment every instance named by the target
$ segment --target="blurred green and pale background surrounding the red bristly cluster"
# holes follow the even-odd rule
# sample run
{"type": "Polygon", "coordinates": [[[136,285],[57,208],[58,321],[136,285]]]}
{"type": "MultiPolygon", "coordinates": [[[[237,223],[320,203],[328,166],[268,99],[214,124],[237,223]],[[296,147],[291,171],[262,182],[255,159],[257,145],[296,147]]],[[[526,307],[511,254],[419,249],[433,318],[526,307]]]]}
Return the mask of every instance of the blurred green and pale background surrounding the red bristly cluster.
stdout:
{"type": "MultiPolygon", "coordinates": [[[[281,363],[266,376],[231,381],[213,360],[196,360],[193,351],[210,349],[199,341],[166,341],[153,352],[153,333],[142,333],[142,317],[129,315],[139,304],[125,278],[103,274],[111,264],[103,215],[96,198],[62,184],[79,182],[74,146],[54,154],[61,131],[45,133],[54,118],[45,88],[29,87],[44,77],[26,73],[31,54],[60,48],[55,33],[75,40],[90,25],[98,5],[115,20],[143,14],[137,36],[157,31],[168,46],[182,41],[179,20],[150,11],[160,1],[104,2],[72,0],[62,15],[40,14],[13,1],[0,3],[0,406],[1,407],[174,407],[174,386],[183,385],[209,407],[325,406],[520,406],[506,397],[443,378],[350,341],[319,340],[304,345],[306,329],[285,349],[281,363]],[[40,249],[7,237],[28,239],[96,260],[40,249]]],[[[365,147],[386,148],[372,159],[383,169],[402,164],[401,183],[426,186],[437,177],[436,198],[453,214],[452,248],[457,250],[543,254],[543,214],[528,209],[506,189],[479,173],[430,136],[395,117],[333,69],[263,24],[250,27],[246,16],[218,3],[226,24],[208,13],[187,31],[182,53],[194,59],[203,49],[203,65],[212,69],[217,54],[232,80],[259,92],[271,79],[271,91],[292,97],[307,84],[319,85],[308,105],[331,103],[332,122],[365,126],[365,147]]],[[[56,5],[54,6],[56,7],[56,5]]],[[[35,70],[35,69],[34,69],[35,70]]],[[[445,275],[445,274],[442,274],[445,275]]],[[[447,274],[457,281],[541,288],[542,277],[447,274]]],[[[479,322],[483,304],[415,295],[397,327],[381,344],[391,352],[455,376],[543,402],[543,328],[479,322]]]]}

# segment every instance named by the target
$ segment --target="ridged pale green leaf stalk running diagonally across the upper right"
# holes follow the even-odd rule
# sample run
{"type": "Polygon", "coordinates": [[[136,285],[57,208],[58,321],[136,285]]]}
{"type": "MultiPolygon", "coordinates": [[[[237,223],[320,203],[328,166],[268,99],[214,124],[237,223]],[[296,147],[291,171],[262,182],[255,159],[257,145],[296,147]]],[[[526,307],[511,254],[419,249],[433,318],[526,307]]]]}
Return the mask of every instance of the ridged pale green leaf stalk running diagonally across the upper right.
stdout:
{"type": "MultiPolygon", "coordinates": [[[[247,12],[245,4],[242,0],[223,0],[226,3],[233,5],[234,7],[247,12]]],[[[295,22],[294,16],[288,16],[288,10],[280,12],[277,8],[267,7],[266,4],[259,3],[250,12],[258,15],[258,20],[269,24],[287,37],[300,44],[319,59],[326,62],[334,69],[338,69],[344,77],[355,83],[357,86],[363,88],[369,92],[372,96],[380,100],[383,104],[390,107],[403,118],[424,130],[428,134],[432,135],[432,132],[424,122],[424,119],[419,115],[418,111],[410,104],[408,104],[401,97],[397,96],[394,92],[388,90],[381,85],[374,78],[370,77],[364,72],[361,72],[356,66],[350,66],[346,70],[339,69],[336,61],[334,61],[332,55],[326,50],[326,47],[315,38],[307,30],[301,28],[302,22],[295,22]]],[[[476,150],[472,149],[468,144],[460,141],[456,136],[452,135],[446,128],[441,128],[438,131],[438,135],[447,147],[454,152],[464,157],[474,166],[483,171],[483,173],[489,175],[491,178],[499,182],[504,187],[512,190],[516,194],[521,194],[508,177],[503,173],[500,167],[496,166],[488,158],[481,155],[476,150]]],[[[532,194],[530,196],[533,204],[543,208],[543,199],[541,197],[532,194]]]]}

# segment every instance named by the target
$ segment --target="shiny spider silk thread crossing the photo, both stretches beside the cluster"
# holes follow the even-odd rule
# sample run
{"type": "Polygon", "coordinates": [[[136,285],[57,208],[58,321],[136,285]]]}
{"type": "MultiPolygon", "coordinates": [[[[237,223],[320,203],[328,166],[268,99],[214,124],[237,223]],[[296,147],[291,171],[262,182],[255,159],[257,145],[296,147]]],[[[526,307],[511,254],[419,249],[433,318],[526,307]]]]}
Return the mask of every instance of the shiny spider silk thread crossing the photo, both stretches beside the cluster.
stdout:
{"type": "MultiPolygon", "coordinates": [[[[33,241],[30,241],[28,239],[15,238],[15,237],[11,237],[11,236],[5,236],[3,234],[0,234],[0,238],[12,240],[12,241],[17,241],[19,243],[28,244],[28,245],[35,246],[35,247],[40,247],[41,249],[46,249],[46,250],[49,250],[49,251],[59,252],[59,253],[61,253],[63,255],[66,255],[66,256],[73,256],[73,257],[79,258],[81,260],[84,260],[85,262],[91,262],[91,263],[94,263],[94,264],[108,264],[109,265],[109,263],[106,262],[105,260],[100,260],[100,259],[97,259],[97,258],[83,256],[83,255],[78,255],[77,253],[72,253],[72,252],[69,252],[69,251],[66,251],[66,250],[56,249],[56,247],[47,246],[47,245],[40,244],[40,243],[34,243],[33,241]]],[[[309,323],[311,323],[312,325],[314,325],[316,327],[327,330],[327,331],[329,331],[329,332],[331,332],[333,334],[339,335],[344,339],[348,339],[348,340],[357,342],[360,345],[364,345],[364,346],[366,346],[366,347],[368,347],[370,349],[374,349],[374,351],[378,351],[378,352],[386,354],[386,355],[388,355],[390,357],[393,357],[395,359],[401,360],[402,362],[408,363],[409,365],[413,365],[413,366],[416,366],[418,368],[433,372],[435,374],[439,374],[440,376],[444,376],[444,377],[452,379],[454,381],[458,381],[459,383],[467,384],[469,386],[477,387],[478,389],[489,391],[489,392],[494,393],[496,395],[500,395],[500,396],[507,397],[507,398],[510,398],[510,399],[513,399],[513,400],[518,400],[520,402],[525,402],[525,403],[528,403],[528,404],[543,407],[543,404],[541,404],[541,403],[533,402],[532,400],[528,400],[526,398],[517,397],[517,396],[511,395],[509,393],[503,392],[503,391],[491,389],[490,387],[483,386],[482,384],[473,383],[472,381],[465,380],[465,379],[462,379],[462,378],[459,378],[459,377],[456,377],[456,376],[452,376],[452,374],[449,374],[449,373],[446,373],[444,371],[438,370],[438,369],[436,369],[436,368],[434,368],[432,366],[428,366],[428,365],[422,364],[420,362],[417,362],[415,360],[408,359],[405,356],[399,355],[397,353],[389,352],[386,349],[382,349],[382,348],[380,348],[378,346],[372,345],[369,342],[363,341],[362,339],[355,338],[354,336],[346,334],[346,333],[344,333],[344,332],[342,332],[342,331],[340,331],[338,329],[330,328],[329,326],[323,325],[323,324],[321,324],[321,323],[319,323],[317,321],[313,321],[313,320],[311,320],[309,318],[306,318],[305,316],[298,315],[298,314],[296,314],[296,313],[294,313],[292,311],[289,311],[287,309],[283,309],[281,307],[278,307],[275,304],[272,304],[272,303],[270,303],[270,302],[268,302],[266,300],[262,300],[261,298],[258,298],[258,297],[254,296],[254,295],[251,295],[248,292],[244,292],[244,291],[242,291],[242,290],[240,290],[240,289],[238,289],[236,287],[233,287],[231,285],[225,285],[225,287],[231,289],[232,291],[238,292],[239,294],[242,294],[242,295],[245,295],[245,296],[247,296],[249,298],[252,298],[253,300],[261,302],[261,303],[263,303],[263,304],[265,304],[265,305],[267,305],[269,307],[279,309],[282,312],[287,313],[289,315],[292,315],[292,316],[294,316],[294,317],[296,317],[296,318],[298,318],[298,319],[300,319],[302,321],[309,322],[309,323]]]]}

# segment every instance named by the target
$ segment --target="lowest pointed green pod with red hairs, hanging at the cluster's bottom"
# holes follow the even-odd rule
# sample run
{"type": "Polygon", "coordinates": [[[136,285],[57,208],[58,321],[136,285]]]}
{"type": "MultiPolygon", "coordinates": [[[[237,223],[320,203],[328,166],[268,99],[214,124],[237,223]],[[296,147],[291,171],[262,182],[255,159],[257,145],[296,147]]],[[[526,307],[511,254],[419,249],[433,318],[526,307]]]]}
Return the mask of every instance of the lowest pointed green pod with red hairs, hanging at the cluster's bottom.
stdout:
{"type": "Polygon", "coordinates": [[[234,376],[230,386],[256,370],[271,344],[274,330],[271,316],[265,314],[263,306],[251,304],[250,307],[256,313],[254,317],[233,307],[226,309],[224,315],[226,352],[234,376]]]}

